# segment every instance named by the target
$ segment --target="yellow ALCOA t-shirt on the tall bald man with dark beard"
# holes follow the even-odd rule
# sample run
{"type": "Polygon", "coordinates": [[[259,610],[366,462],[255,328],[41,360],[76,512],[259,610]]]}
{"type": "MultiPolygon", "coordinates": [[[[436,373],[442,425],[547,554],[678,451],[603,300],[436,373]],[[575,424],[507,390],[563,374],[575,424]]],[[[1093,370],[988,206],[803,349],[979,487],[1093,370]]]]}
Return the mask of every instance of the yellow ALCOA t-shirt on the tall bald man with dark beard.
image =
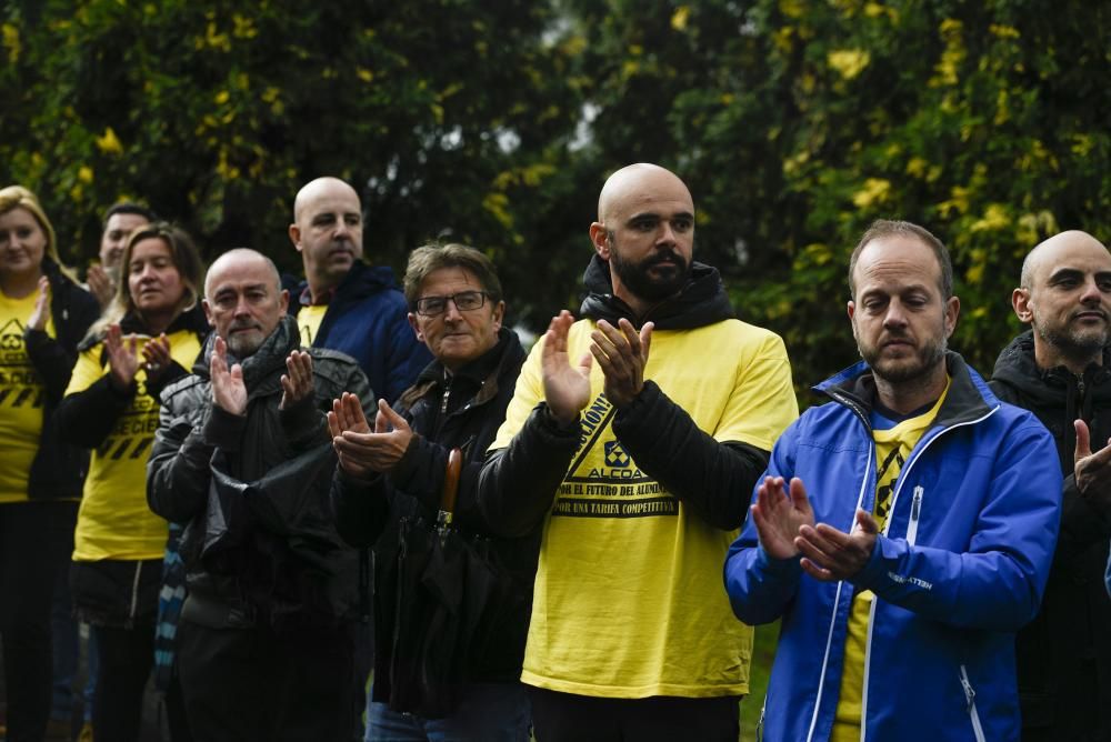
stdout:
{"type": "MultiPolygon", "coordinates": [[[[571,328],[573,361],[594,327],[571,328]]],[[[542,344],[492,449],[543,398],[542,344]]],[[[798,417],[782,340],[738,320],[653,332],[644,377],[718,441],[770,451],[798,417]]],[[[721,579],[737,531],[712,528],[637,465],[613,434],[597,363],[590,383],[580,448],[544,524],[521,680],[603,698],[747,693],[752,629],[733,615],[721,579]]]]}

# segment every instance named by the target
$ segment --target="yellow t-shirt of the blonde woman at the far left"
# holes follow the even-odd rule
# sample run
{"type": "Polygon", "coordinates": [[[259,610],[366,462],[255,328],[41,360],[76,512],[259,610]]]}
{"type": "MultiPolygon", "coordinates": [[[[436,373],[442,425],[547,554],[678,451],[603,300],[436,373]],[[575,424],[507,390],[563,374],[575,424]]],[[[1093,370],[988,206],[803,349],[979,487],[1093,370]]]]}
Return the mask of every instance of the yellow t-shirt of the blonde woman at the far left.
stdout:
{"type": "MultiPolygon", "coordinates": [[[[31,463],[42,437],[46,388],[23,342],[38,293],[11,299],[0,291],[0,503],[28,499],[31,463]]],[[[46,330],[57,337],[49,313],[46,330]]]]}

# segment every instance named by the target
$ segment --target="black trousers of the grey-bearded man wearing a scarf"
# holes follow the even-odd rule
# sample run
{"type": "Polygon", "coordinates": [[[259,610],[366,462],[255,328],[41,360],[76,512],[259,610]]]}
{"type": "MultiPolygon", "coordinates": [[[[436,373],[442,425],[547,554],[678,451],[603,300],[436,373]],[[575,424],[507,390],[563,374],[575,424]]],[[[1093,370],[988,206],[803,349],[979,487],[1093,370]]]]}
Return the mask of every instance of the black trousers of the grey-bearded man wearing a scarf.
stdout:
{"type": "Polygon", "coordinates": [[[193,738],[349,742],[354,624],[278,635],[269,626],[178,624],[178,663],[193,738]]]}

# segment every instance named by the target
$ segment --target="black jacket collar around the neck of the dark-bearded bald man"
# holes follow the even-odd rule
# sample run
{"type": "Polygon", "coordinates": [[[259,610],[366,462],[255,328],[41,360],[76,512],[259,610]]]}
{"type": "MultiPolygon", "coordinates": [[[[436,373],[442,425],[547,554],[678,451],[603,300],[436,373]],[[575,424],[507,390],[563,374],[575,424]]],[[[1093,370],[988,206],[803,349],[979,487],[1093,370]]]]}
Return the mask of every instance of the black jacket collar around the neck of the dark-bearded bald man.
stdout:
{"type": "Polygon", "coordinates": [[[690,330],[735,317],[718,270],[700,262],[691,264],[691,280],[678,295],[655,304],[644,317],[637,317],[629,304],[613,295],[610,265],[597,254],[590,259],[582,280],[589,293],[579,311],[591,320],[617,324],[623,317],[638,330],[649,321],[655,323],[657,330],[690,330]]]}

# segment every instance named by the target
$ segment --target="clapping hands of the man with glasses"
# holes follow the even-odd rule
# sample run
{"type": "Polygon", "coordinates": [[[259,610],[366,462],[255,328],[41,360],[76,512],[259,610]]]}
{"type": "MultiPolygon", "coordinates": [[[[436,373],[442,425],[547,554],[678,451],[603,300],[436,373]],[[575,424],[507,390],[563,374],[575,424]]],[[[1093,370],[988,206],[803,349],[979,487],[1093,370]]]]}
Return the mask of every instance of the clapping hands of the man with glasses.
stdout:
{"type": "Polygon", "coordinates": [[[359,398],[348,393],[332,402],[328,427],[340,465],[352,477],[367,478],[392,471],[413,437],[406,419],[390,409],[384,400],[378,402],[378,414],[371,431],[359,398]]]}

